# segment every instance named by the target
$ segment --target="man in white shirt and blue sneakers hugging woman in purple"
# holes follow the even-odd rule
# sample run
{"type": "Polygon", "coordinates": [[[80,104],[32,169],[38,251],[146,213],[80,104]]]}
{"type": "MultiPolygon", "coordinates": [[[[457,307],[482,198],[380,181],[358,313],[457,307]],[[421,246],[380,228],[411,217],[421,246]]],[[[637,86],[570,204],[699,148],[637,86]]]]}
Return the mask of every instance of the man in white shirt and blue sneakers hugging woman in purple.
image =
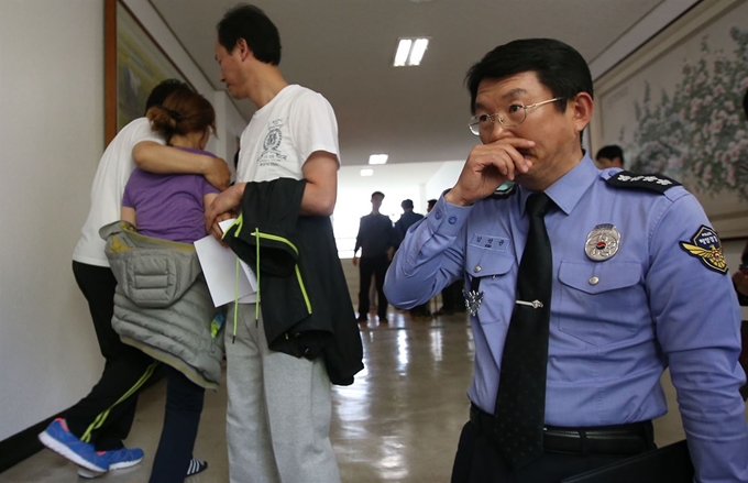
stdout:
{"type": "MultiPolygon", "coordinates": [[[[148,96],[146,111],[179,90],[191,89],[176,79],[158,84],[148,96]]],[[[155,369],[150,356],[122,343],[112,329],[117,281],[105,255],[99,229],[119,220],[122,193],[135,164],[152,172],[201,174],[220,188],[224,188],[230,178],[223,160],[163,144],[164,140],[151,131],[150,121],[144,117],[122,128],[99,162],[91,188],[91,208],[73,252],[73,273],[88,301],[105,367],[91,392],[64,417],[52,421],[38,438],[47,448],[80,466],[79,474],[87,477],[142,461],[143,451],[125,448],[123,440],[133,422],[138,391],[155,369]],[[139,147],[151,146],[156,149],[144,157],[135,155],[139,147]],[[156,155],[151,157],[151,154],[156,155]]]]}

